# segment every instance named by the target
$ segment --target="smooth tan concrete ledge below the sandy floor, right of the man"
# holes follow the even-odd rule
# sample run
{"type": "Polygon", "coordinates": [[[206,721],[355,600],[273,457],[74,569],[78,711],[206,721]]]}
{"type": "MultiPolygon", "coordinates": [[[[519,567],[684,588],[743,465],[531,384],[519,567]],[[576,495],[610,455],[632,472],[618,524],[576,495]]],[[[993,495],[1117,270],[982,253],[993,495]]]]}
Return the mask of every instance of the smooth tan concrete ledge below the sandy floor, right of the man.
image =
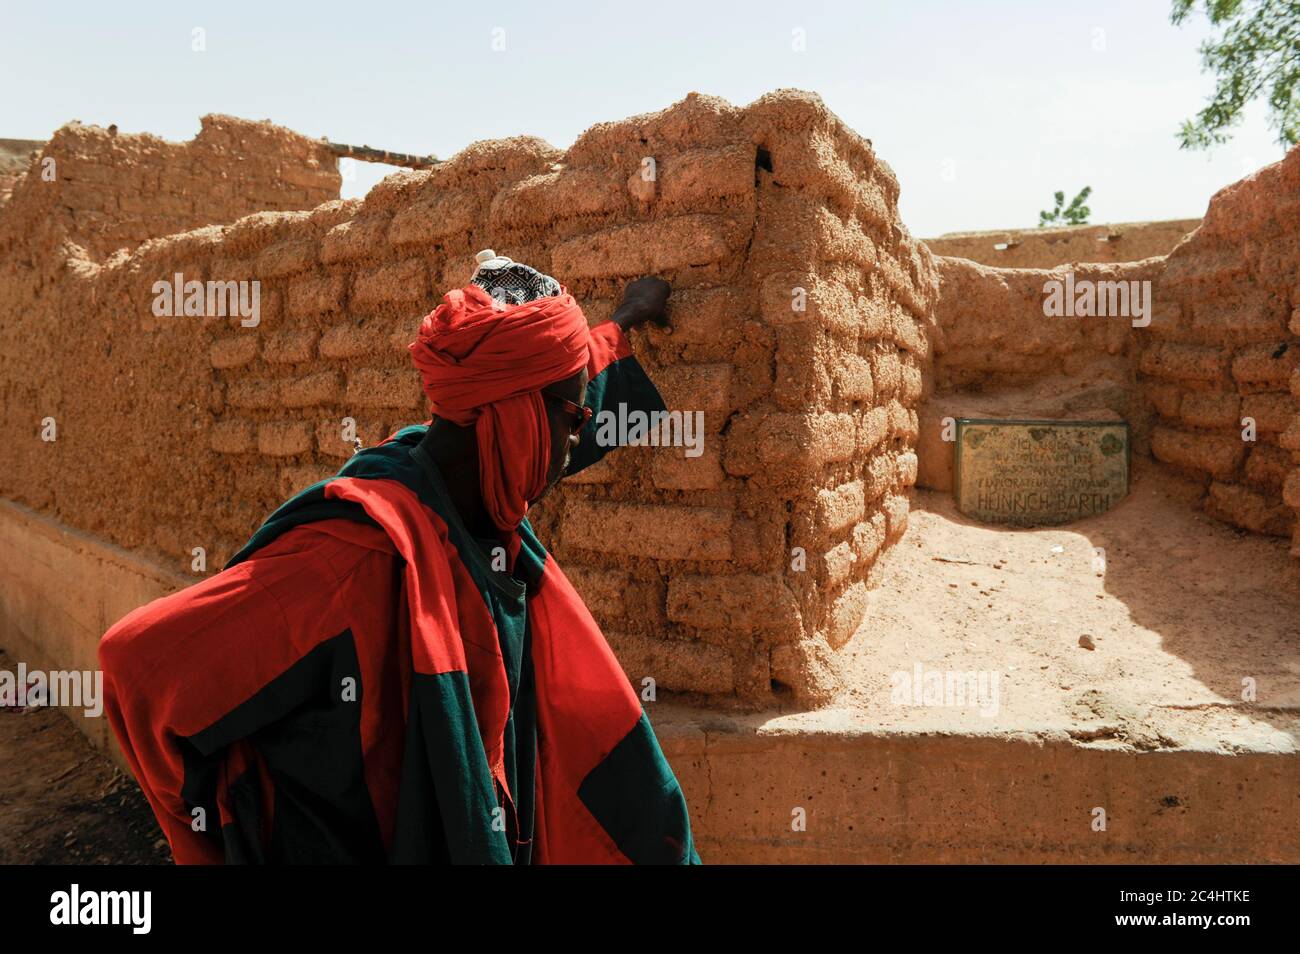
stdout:
{"type": "Polygon", "coordinates": [[[905,733],[835,710],[650,717],[706,864],[1300,862],[1286,733],[1225,754],[905,733]]]}

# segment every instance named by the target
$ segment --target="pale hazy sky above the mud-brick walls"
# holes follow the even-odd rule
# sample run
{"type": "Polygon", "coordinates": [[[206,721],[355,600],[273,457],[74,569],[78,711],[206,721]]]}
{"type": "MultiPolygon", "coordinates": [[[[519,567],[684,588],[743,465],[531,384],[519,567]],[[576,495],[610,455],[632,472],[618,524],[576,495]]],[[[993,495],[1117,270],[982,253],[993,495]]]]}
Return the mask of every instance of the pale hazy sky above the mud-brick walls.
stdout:
{"type": "MultiPolygon", "coordinates": [[[[9,4],[0,138],[75,118],[182,140],[221,112],[448,157],[521,134],[564,148],[693,90],[744,105],[798,87],[874,142],[918,237],[1031,227],[1084,185],[1093,222],[1190,218],[1282,157],[1258,105],[1227,146],[1178,148],[1213,83],[1204,16],[1174,27],[1169,0],[403,6],[9,4]]],[[[358,164],[343,194],[387,172],[358,164]]]]}

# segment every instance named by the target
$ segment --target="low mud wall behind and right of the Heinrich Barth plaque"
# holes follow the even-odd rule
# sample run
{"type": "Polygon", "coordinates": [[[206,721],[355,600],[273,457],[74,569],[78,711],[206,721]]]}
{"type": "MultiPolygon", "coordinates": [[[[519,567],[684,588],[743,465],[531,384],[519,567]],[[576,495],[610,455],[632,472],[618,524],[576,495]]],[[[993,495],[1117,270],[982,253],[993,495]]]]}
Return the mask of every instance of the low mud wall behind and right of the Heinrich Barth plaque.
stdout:
{"type": "Polygon", "coordinates": [[[936,259],[936,396],[922,411],[922,483],[950,486],[950,448],[937,443],[944,416],[975,407],[1045,417],[1100,409],[1128,420],[1135,450],[1149,450],[1216,517],[1292,534],[1300,506],[1297,212],[1300,149],[1291,149],[1221,190],[1166,257],[1054,269],[936,259]],[[1078,282],[1150,281],[1149,325],[1046,317],[1044,285],[1066,272],[1078,282]],[[1244,417],[1254,421],[1253,441],[1243,439],[1244,417]]]}

